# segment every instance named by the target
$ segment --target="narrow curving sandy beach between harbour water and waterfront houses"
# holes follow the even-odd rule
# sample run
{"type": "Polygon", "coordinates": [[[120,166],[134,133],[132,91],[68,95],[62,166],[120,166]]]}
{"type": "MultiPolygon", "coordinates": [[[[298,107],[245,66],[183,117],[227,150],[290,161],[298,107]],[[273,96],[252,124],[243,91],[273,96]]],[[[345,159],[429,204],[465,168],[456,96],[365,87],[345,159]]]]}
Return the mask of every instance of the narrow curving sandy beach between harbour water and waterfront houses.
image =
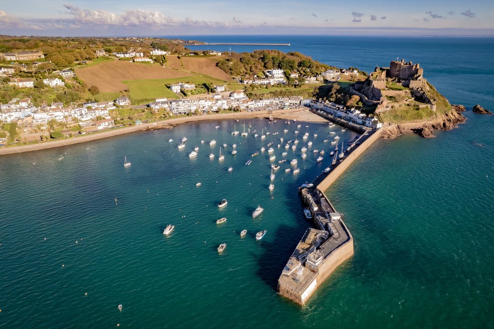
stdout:
{"type": "Polygon", "coordinates": [[[129,127],[110,129],[110,130],[105,130],[105,131],[86,134],[86,135],[79,135],[67,139],[39,142],[37,144],[1,147],[0,155],[50,149],[55,147],[73,145],[73,144],[89,142],[97,139],[123,135],[136,131],[171,128],[179,124],[193,123],[198,121],[269,118],[270,116],[272,116],[273,119],[296,120],[301,122],[313,122],[313,123],[328,122],[326,119],[318,116],[317,114],[310,112],[307,108],[275,110],[275,111],[253,111],[253,112],[209,114],[209,115],[200,115],[200,116],[192,116],[192,117],[173,118],[173,119],[168,119],[168,120],[163,120],[153,123],[143,123],[141,125],[133,125],[129,127]]]}

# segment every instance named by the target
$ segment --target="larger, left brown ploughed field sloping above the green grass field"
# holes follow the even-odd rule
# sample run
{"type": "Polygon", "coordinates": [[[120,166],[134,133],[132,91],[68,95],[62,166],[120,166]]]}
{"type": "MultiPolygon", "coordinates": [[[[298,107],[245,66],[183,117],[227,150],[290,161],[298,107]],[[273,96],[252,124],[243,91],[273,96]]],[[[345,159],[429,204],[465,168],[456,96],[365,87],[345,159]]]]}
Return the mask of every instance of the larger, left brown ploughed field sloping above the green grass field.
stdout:
{"type": "Polygon", "coordinates": [[[76,69],[79,79],[88,86],[95,85],[101,92],[118,92],[127,88],[123,81],[141,79],[173,79],[190,76],[190,73],[167,69],[157,65],[145,65],[113,60],[76,69]]]}

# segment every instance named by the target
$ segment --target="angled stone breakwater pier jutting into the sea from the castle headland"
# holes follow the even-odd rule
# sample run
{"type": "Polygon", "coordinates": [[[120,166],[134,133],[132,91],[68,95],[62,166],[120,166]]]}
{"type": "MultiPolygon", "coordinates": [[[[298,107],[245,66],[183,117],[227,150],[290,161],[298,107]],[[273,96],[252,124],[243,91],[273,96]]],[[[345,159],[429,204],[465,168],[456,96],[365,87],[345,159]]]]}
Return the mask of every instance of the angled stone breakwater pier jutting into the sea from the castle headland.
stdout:
{"type": "Polygon", "coordinates": [[[361,144],[333,165],[328,174],[322,173],[312,184],[300,188],[301,202],[312,214],[316,228],[307,229],[288,259],[278,279],[282,296],[304,305],[336,267],[353,255],[352,234],[324,191],[379,138],[380,130],[364,133],[361,144]]]}

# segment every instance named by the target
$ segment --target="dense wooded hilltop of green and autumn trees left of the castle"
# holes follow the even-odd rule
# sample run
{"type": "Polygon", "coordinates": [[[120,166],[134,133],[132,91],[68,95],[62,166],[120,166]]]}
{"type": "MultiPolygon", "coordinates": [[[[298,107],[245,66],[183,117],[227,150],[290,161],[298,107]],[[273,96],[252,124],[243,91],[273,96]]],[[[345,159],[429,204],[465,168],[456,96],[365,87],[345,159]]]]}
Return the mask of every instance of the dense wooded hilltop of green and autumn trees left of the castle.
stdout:
{"type": "Polygon", "coordinates": [[[218,62],[218,67],[230,76],[262,75],[263,70],[282,69],[287,75],[298,73],[314,76],[330,67],[314,61],[298,52],[284,53],[278,50],[255,50],[253,52],[229,53],[218,62]]]}

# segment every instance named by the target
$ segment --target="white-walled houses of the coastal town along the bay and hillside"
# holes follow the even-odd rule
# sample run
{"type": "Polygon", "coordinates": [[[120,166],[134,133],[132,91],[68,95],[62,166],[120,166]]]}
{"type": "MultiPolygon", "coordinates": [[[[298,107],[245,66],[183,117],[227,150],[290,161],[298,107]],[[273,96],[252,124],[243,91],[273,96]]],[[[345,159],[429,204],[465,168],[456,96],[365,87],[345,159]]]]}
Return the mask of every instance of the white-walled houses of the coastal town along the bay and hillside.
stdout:
{"type": "MultiPolygon", "coordinates": [[[[127,41],[136,41],[127,38],[127,41]]],[[[142,40],[138,40],[142,41],[142,40]]],[[[180,56],[180,49],[173,46],[162,46],[163,49],[174,49],[180,56]]],[[[0,130],[0,143],[13,145],[17,143],[33,143],[48,141],[50,139],[68,138],[77,134],[86,134],[116,127],[139,125],[143,122],[159,121],[166,118],[206,115],[225,111],[260,111],[260,110],[287,110],[295,108],[319,108],[321,103],[300,95],[283,97],[252,97],[247,95],[246,89],[231,90],[230,84],[205,84],[188,82],[187,80],[166,84],[171,94],[155,97],[147,103],[138,101],[133,104],[129,95],[121,94],[114,99],[87,100],[78,102],[71,98],[73,90],[80,88],[83,84],[77,76],[78,65],[88,65],[95,59],[117,61],[131,61],[134,65],[156,65],[173,54],[173,51],[163,50],[158,47],[134,48],[126,51],[113,51],[107,47],[93,47],[93,53],[84,50],[87,60],[81,58],[76,61],[76,66],[66,65],[59,68],[61,64],[54,64],[50,55],[45,56],[40,50],[21,50],[12,52],[0,52],[0,78],[4,86],[8,86],[9,93],[19,97],[4,98],[0,102],[0,122],[15,124],[16,129],[4,126],[0,130]],[[152,64],[156,63],[156,64],[152,64]],[[75,70],[77,69],[77,70],[75,70]],[[26,76],[32,76],[28,78],[26,76]],[[206,87],[206,88],[205,88],[206,87]],[[14,89],[11,89],[14,88],[14,89]],[[33,92],[30,92],[33,90],[33,92]],[[40,90],[47,96],[45,98],[34,97],[40,90]],[[56,98],[53,99],[53,94],[56,98]],[[59,96],[61,95],[61,96],[59,96]],[[52,102],[49,100],[52,99],[52,102]],[[58,100],[58,101],[57,101],[58,100]],[[319,104],[319,105],[318,105],[319,104]],[[126,110],[128,109],[128,110],[126,110]],[[123,111],[121,111],[123,110],[123,111]],[[123,118],[121,113],[134,113],[135,115],[123,118]],[[143,115],[144,114],[144,115],[143,115]],[[7,128],[5,128],[7,127],[7,128]],[[16,136],[10,136],[12,131],[17,131],[16,136]],[[38,134],[38,135],[37,135],[38,134]],[[41,137],[40,137],[41,136],[41,137]],[[50,138],[47,138],[49,136],[50,138]]],[[[117,49],[117,48],[116,48],[117,49]]],[[[222,56],[221,52],[206,50],[203,52],[185,52],[182,56],[222,56]]],[[[173,56],[173,55],[172,55],[173,56]]],[[[302,75],[294,70],[272,68],[262,71],[262,76],[245,75],[233,77],[237,83],[235,86],[276,87],[298,84],[317,84],[324,81],[339,81],[341,77],[355,78],[359,75],[356,69],[329,68],[316,75],[302,75]]],[[[0,83],[0,84],[1,84],[0,83]]],[[[91,89],[97,87],[91,86],[91,89]]],[[[98,91],[96,91],[98,92],[98,91]]],[[[5,93],[7,95],[8,93],[5,93]]],[[[5,96],[4,96],[5,97],[5,96]]],[[[326,101],[326,103],[328,103],[326,101]]],[[[341,113],[352,113],[352,119],[359,124],[371,124],[371,117],[362,114],[354,108],[341,106],[341,113]],[[365,123],[363,120],[367,120],[365,123]]]]}

